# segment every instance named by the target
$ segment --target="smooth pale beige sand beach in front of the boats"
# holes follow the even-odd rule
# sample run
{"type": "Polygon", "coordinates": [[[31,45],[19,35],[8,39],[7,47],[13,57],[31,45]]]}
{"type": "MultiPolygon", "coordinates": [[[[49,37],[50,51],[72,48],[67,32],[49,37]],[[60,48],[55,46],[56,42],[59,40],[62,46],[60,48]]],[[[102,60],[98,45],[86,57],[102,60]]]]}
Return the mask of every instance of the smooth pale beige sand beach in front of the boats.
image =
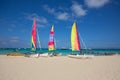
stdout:
{"type": "Polygon", "coordinates": [[[120,55],[90,59],[0,55],[0,80],[120,80],[120,55]]]}

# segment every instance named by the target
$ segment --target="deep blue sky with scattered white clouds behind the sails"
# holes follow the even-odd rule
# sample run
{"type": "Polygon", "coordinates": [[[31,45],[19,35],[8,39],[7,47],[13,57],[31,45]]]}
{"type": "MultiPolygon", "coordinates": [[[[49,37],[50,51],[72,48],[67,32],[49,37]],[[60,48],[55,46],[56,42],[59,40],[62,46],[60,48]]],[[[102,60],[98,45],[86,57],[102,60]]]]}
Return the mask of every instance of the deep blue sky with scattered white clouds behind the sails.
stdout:
{"type": "Polygon", "coordinates": [[[70,48],[74,21],[81,47],[120,48],[119,0],[0,0],[0,48],[29,48],[33,18],[41,46],[55,26],[57,48],[70,48]]]}

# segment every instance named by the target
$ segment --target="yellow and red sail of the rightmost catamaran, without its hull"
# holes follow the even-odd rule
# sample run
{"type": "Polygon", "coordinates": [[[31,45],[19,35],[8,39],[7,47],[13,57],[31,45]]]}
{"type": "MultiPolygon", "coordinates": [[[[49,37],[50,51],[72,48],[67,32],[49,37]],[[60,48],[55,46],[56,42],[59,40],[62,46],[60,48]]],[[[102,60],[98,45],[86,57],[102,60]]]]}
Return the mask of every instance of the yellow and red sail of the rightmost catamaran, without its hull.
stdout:
{"type": "Polygon", "coordinates": [[[71,48],[72,51],[80,50],[80,42],[79,42],[79,36],[78,36],[78,30],[76,27],[76,22],[74,22],[71,30],[71,48]]]}

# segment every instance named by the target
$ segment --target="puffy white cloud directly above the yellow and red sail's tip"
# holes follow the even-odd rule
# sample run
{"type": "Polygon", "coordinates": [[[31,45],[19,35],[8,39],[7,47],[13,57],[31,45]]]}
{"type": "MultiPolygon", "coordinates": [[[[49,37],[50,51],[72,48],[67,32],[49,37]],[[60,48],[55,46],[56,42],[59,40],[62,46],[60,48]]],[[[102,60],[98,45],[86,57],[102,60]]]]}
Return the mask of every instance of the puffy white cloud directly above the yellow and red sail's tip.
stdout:
{"type": "Polygon", "coordinates": [[[83,9],[82,5],[80,5],[80,4],[76,3],[76,2],[73,2],[71,10],[73,11],[73,14],[76,17],[85,16],[87,14],[86,13],[87,11],[85,9],[83,9]]]}

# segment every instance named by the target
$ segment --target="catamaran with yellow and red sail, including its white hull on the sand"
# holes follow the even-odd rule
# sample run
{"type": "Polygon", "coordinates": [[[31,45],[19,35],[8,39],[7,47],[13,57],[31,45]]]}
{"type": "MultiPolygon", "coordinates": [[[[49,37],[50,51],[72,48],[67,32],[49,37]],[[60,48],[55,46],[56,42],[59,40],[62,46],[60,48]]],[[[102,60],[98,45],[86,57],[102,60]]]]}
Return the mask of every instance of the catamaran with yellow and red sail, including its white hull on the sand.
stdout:
{"type": "Polygon", "coordinates": [[[71,49],[73,54],[68,55],[68,57],[71,58],[89,58],[93,57],[93,55],[81,55],[81,47],[80,47],[80,40],[79,40],[79,35],[78,35],[78,30],[76,26],[76,22],[74,22],[71,30],[71,49]],[[79,52],[79,54],[74,54],[74,52],[79,52]]]}

